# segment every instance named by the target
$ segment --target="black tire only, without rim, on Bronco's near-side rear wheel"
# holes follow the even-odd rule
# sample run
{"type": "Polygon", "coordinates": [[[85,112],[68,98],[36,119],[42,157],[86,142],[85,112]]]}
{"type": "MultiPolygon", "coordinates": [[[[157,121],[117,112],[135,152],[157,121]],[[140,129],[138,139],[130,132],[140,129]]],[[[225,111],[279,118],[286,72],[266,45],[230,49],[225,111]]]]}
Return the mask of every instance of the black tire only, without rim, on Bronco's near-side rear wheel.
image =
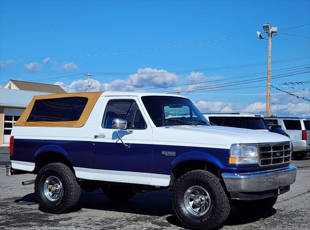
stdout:
{"type": "Polygon", "coordinates": [[[52,163],[44,166],[37,174],[34,193],[43,212],[60,214],[70,212],[76,207],[81,187],[68,166],[62,163],[52,163]],[[59,178],[62,183],[62,195],[58,201],[49,201],[44,194],[44,183],[49,176],[59,178]]]}

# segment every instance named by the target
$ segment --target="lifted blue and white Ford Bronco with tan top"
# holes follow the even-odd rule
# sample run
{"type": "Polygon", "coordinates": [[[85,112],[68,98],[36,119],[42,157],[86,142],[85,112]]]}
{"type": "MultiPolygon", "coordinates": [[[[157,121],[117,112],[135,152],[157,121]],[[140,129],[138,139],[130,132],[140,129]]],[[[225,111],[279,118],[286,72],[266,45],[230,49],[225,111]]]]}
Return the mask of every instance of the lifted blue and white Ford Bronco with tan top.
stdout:
{"type": "Polygon", "coordinates": [[[291,149],[277,133],[211,126],[180,95],[105,91],[35,96],[13,128],[10,158],[12,173],[37,174],[45,212],[72,210],[81,189],[115,202],[169,189],[184,227],[210,229],[231,206],[263,213],[289,191],[291,149]]]}

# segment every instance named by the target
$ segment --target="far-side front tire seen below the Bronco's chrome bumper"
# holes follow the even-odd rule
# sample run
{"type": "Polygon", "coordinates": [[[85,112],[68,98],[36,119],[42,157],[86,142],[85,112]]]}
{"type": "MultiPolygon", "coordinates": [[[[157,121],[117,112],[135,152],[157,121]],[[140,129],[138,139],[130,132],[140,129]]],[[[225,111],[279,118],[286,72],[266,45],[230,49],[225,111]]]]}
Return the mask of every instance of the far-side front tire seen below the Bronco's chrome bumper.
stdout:
{"type": "Polygon", "coordinates": [[[277,202],[278,197],[266,198],[257,201],[232,201],[234,209],[248,215],[261,215],[269,211],[277,202]]]}

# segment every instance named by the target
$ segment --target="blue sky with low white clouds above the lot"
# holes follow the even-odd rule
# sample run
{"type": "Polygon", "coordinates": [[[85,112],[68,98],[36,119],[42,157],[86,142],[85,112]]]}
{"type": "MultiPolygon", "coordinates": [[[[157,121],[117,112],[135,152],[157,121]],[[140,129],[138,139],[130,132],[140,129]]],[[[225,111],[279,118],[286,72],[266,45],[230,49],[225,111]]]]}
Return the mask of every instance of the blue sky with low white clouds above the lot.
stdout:
{"type": "Polygon", "coordinates": [[[271,114],[310,117],[310,84],[284,85],[310,81],[309,0],[0,0],[0,85],[86,91],[90,72],[92,91],[180,92],[204,113],[265,115],[265,23],[279,29],[271,114]]]}

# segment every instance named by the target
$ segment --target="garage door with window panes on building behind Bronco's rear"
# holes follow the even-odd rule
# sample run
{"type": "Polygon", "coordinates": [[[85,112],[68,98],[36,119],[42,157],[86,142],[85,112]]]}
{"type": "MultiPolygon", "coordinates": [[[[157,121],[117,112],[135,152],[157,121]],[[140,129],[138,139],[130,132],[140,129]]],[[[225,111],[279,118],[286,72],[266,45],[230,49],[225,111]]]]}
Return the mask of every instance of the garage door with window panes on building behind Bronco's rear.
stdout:
{"type": "Polygon", "coordinates": [[[23,109],[4,109],[3,142],[9,143],[13,124],[24,112],[23,109]]]}

